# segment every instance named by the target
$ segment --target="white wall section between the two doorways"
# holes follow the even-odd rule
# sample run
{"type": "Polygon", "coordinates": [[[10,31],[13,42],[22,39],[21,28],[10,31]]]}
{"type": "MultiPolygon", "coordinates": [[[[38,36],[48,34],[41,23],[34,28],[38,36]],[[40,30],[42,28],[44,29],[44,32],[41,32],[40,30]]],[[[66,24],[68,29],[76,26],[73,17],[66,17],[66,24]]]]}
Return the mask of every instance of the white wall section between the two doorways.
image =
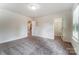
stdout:
{"type": "Polygon", "coordinates": [[[39,17],[34,20],[36,21],[36,27],[33,35],[54,39],[53,19],[51,16],[39,17]]]}

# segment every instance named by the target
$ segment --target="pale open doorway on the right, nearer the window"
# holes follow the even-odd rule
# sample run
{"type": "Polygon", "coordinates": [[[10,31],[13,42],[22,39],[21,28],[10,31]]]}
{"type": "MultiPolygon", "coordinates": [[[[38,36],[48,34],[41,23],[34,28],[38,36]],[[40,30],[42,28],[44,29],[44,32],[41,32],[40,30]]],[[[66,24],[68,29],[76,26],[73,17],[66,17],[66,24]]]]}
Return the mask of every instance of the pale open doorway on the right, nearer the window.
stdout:
{"type": "Polygon", "coordinates": [[[54,19],[54,37],[63,37],[62,18],[55,18],[54,19]]]}

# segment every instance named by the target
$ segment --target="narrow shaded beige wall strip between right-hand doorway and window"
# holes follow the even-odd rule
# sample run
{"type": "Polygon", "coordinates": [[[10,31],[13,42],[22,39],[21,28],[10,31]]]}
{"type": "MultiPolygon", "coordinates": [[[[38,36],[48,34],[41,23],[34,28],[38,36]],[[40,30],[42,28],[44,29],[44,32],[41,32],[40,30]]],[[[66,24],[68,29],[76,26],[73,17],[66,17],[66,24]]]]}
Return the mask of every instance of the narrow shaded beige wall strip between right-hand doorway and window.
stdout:
{"type": "Polygon", "coordinates": [[[67,42],[72,40],[72,10],[63,16],[63,40],[67,42]]]}

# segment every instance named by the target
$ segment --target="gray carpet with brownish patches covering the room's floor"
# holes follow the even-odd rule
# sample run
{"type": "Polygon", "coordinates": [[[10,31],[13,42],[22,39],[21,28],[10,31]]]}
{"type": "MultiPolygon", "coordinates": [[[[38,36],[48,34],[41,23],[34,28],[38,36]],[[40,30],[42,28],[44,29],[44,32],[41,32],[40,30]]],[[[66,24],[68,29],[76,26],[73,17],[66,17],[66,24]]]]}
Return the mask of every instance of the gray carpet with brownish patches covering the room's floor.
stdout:
{"type": "Polygon", "coordinates": [[[0,55],[68,55],[57,40],[27,37],[0,44],[0,55]]]}

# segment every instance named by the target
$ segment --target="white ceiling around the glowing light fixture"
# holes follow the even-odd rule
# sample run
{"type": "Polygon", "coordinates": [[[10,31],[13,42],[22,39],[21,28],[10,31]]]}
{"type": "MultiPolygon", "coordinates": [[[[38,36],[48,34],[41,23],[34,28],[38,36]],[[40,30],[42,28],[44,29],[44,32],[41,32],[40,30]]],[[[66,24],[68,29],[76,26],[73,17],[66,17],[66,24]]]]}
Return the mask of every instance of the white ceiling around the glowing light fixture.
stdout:
{"type": "Polygon", "coordinates": [[[0,3],[0,8],[17,12],[24,16],[39,17],[71,9],[73,6],[72,3],[38,3],[40,8],[34,11],[27,7],[28,4],[29,3],[0,3]]]}

